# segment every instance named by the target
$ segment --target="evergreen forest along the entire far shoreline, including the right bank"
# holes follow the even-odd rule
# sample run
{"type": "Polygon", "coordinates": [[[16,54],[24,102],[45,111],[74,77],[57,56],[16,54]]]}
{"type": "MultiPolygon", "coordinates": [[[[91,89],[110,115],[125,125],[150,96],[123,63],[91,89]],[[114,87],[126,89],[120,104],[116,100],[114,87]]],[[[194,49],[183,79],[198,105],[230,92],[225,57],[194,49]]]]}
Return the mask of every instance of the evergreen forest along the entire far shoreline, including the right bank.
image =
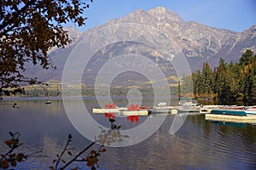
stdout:
{"type": "MultiPolygon", "coordinates": [[[[137,87],[143,96],[154,95],[153,88],[137,87]]],[[[34,84],[23,87],[21,96],[95,96],[95,87],[82,84],[82,88],[67,85],[61,89],[60,81],[34,84]]],[[[126,96],[130,88],[112,87],[111,96],[126,96]]],[[[202,103],[218,105],[255,105],[256,104],[256,55],[253,50],[247,49],[238,62],[226,63],[219,59],[218,66],[211,68],[208,62],[204,63],[201,70],[189,76],[183,76],[178,82],[178,87],[170,87],[172,95],[193,97],[202,103]]],[[[9,95],[11,90],[3,90],[2,95],[9,95]]],[[[15,93],[13,93],[15,94],[15,93]]],[[[100,93],[101,94],[101,93],[100,93]]],[[[104,96],[102,92],[102,96],[104,96]]]]}

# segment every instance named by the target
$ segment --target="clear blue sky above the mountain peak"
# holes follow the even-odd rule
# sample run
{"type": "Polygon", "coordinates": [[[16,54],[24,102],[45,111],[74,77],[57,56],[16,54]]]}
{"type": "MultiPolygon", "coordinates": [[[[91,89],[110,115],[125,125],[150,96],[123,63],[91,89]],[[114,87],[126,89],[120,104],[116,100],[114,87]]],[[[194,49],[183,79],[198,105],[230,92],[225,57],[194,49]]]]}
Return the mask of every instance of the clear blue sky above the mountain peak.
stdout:
{"type": "Polygon", "coordinates": [[[166,7],[184,21],[196,21],[231,31],[244,31],[256,24],[256,0],[93,0],[85,10],[86,31],[109,20],[118,19],[142,8],[166,7]]]}

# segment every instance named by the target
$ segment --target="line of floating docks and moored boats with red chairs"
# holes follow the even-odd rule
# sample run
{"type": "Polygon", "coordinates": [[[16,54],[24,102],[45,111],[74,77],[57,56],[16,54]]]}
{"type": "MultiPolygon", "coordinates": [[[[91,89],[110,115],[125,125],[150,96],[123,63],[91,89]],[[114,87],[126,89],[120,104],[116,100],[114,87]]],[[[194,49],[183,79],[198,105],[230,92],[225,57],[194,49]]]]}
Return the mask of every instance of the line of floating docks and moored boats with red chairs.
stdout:
{"type": "Polygon", "coordinates": [[[118,113],[123,116],[148,116],[150,114],[177,114],[182,112],[198,112],[205,114],[206,120],[226,122],[256,122],[256,105],[200,105],[194,99],[180,100],[177,106],[167,106],[160,102],[152,108],[130,105],[129,107],[116,107],[108,104],[105,108],[94,108],[93,113],[118,113]]]}

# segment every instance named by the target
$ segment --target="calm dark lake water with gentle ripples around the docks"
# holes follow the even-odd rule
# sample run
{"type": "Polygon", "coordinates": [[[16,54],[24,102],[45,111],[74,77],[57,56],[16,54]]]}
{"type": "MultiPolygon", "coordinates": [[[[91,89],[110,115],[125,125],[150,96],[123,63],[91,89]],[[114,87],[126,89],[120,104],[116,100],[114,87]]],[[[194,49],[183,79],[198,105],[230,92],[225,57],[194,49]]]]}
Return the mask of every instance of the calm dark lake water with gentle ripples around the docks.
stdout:
{"type": "MultiPolygon", "coordinates": [[[[76,99],[70,99],[76,105],[76,99]]],[[[3,144],[9,139],[9,131],[21,133],[24,144],[20,150],[27,154],[43,150],[44,156],[33,157],[19,164],[17,169],[48,169],[56,154],[60,154],[73,134],[73,152],[90,144],[70,123],[60,99],[53,99],[45,105],[44,99],[22,99],[15,101],[20,109],[0,105],[0,153],[6,150],[3,144]]],[[[127,105],[125,99],[116,100],[117,105],[127,105]]],[[[2,102],[3,103],[3,102],[2,102]]],[[[84,99],[91,111],[96,99],[84,99]]],[[[145,101],[143,105],[152,105],[145,101]]],[[[91,113],[90,113],[91,114],[91,113]]],[[[108,119],[102,114],[91,114],[102,126],[108,126],[108,119]]],[[[158,115],[160,116],[160,115],[158,115]]],[[[126,117],[117,117],[122,128],[137,127],[146,119],[156,120],[158,116],[140,116],[138,122],[126,117]]],[[[209,122],[204,115],[190,115],[183,126],[171,135],[169,133],[174,116],[166,116],[165,122],[148,139],[127,147],[106,147],[98,169],[256,169],[256,126],[224,122],[209,122]]],[[[150,125],[148,125],[150,126],[150,125]]],[[[98,145],[94,147],[98,148],[98,145]]],[[[81,169],[90,169],[84,163],[81,169]]],[[[75,167],[75,166],[73,166],[75,167]]]]}

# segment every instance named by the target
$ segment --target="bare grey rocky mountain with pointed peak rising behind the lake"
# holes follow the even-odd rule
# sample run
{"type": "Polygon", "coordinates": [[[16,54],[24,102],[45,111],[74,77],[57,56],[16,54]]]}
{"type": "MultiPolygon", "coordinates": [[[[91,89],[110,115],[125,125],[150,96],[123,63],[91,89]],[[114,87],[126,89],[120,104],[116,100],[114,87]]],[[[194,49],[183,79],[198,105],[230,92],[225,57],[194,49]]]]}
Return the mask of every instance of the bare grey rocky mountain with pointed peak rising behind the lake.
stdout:
{"type": "MultiPolygon", "coordinates": [[[[81,57],[90,58],[84,68],[86,83],[94,83],[102,66],[125,54],[144,56],[160,67],[166,77],[172,77],[177,75],[178,66],[173,65],[172,60],[181,54],[189,62],[190,70],[195,71],[201,69],[203,62],[215,67],[220,57],[226,62],[237,61],[247,48],[256,50],[256,25],[242,32],[212,28],[194,21],[185,22],[163,7],[148,11],[137,9],[83,33],[73,27],[67,27],[67,31],[73,42],[65,49],[54,48],[49,54],[57,69],[42,71],[38,66],[28,66],[28,76],[44,82],[61,80],[65,62],[76,50],[84,54],[81,57]],[[87,54],[88,48],[93,48],[94,53],[87,54]]],[[[124,77],[122,81],[132,78],[137,76],[126,80],[124,77]]]]}

